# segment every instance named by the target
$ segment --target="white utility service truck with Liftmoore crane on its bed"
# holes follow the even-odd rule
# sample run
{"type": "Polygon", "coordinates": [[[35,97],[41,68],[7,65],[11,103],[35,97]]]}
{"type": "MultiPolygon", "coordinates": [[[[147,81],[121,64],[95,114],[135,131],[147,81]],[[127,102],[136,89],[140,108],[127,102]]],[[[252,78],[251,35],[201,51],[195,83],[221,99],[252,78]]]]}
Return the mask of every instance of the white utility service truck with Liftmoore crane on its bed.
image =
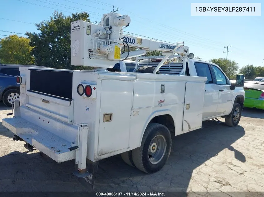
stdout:
{"type": "Polygon", "coordinates": [[[123,35],[129,24],[129,16],[116,12],[98,25],[72,22],[71,64],[93,69],[21,67],[20,103],[2,120],[28,150],[56,162],[75,160],[74,174],[91,185],[99,160],[121,154],[127,164],[156,172],[170,155],[171,134],[200,129],[203,120],[219,116],[235,126],[243,108],[243,75],[231,84],[217,65],[193,60],[183,43],[123,35]],[[138,57],[152,50],[162,56],[138,57]],[[137,59],[134,72],[107,70],[131,57],[137,59]],[[139,59],[157,58],[156,66],[140,67],[139,59]],[[178,73],[160,74],[163,64],[175,62],[178,73]]]}

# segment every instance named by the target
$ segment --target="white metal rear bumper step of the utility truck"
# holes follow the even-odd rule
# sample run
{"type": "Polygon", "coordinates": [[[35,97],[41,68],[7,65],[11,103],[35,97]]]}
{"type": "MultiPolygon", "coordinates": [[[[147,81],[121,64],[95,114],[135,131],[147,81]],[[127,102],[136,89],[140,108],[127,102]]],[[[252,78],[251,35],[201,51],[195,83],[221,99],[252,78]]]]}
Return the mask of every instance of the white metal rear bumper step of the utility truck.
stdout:
{"type": "MultiPolygon", "coordinates": [[[[72,147],[71,142],[36,124],[21,117],[2,119],[2,124],[19,138],[22,138],[26,144],[32,145],[58,163],[75,159],[75,151],[69,149],[72,147]]],[[[32,147],[30,149],[32,150],[32,147]]]]}

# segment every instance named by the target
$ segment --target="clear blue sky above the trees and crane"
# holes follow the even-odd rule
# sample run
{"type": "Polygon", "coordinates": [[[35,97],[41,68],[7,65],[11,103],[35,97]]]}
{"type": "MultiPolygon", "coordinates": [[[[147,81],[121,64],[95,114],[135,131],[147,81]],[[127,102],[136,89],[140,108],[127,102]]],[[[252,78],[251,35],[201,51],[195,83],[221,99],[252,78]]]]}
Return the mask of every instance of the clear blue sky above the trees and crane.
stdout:
{"type": "MultiPolygon", "coordinates": [[[[131,18],[127,32],[167,42],[182,42],[190,53],[209,61],[213,58],[234,60],[239,67],[264,66],[264,13],[262,16],[191,16],[191,3],[215,3],[210,0],[0,0],[0,38],[5,31],[38,32],[34,23],[48,20],[54,10],[65,16],[88,12],[92,22],[118,8],[131,18]],[[156,2],[156,3],[155,3],[156,2]],[[12,10],[11,10],[12,8],[12,10]],[[7,20],[8,19],[8,20],[7,20]]],[[[252,3],[229,0],[218,3],[252,3]]],[[[261,3],[255,0],[254,3],[261,3]]],[[[20,36],[26,36],[17,34],[20,36]]]]}

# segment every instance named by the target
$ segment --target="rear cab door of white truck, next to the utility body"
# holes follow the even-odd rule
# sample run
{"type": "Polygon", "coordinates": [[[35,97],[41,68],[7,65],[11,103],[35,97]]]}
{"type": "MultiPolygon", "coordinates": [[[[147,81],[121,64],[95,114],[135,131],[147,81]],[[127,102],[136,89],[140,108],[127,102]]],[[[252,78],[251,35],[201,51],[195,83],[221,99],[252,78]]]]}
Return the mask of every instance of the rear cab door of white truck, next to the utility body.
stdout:
{"type": "Polygon", "coordinates": [[[210,65],[202,61],[194,61],[194,66],[198,77],[207,77],[204,92],[204,104],[202,119],[215,115],[218,105],[219,87],[214,84],[210,65]]]}

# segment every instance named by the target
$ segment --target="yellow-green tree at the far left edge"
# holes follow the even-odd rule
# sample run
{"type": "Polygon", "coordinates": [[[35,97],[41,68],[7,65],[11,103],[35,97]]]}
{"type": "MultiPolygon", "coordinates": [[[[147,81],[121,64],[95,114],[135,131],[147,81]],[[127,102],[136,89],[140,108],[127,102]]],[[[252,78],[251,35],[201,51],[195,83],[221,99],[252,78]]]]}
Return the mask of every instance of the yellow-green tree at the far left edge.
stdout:
{"type": "Polygon", "coordinates": [[[26,37],[10,35],[0,39],[0,63],[3,64],[34,64],[30,54],[32,48],[26,37]]]}

